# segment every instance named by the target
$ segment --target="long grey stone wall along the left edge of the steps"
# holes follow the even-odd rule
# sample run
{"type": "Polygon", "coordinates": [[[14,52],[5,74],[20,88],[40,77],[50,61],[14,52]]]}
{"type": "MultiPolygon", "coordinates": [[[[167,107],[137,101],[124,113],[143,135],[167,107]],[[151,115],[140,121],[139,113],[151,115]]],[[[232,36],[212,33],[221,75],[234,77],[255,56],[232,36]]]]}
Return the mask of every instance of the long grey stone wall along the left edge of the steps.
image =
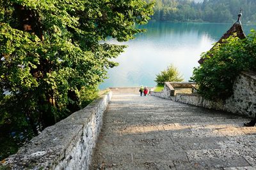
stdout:
{"type": "Polygon", "coordinates": [[[100,97],[33,138],[8,157],[2,168],[88,169],[112,92],[100,97]]]}

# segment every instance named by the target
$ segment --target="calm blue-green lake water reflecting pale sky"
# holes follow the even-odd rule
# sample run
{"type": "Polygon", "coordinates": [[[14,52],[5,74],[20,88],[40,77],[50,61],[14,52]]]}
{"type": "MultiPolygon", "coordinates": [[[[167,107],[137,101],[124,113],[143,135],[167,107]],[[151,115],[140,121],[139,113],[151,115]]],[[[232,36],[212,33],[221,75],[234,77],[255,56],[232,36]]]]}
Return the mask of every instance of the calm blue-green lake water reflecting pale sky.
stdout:
{"type": "MultiPolygon", "coordinates": [[[[173,23],[154,22],[140,25],[147,29],[137,34],[136,39],[124,43],[115,40],[109,43],[128,45],[115,61],[118,67],[109,69],[109,79],[100,84],[99,89],[108,87],[154,87],[156,74],[173,64],[188,81],[193,67],[198,66],[202,52],[211,49],[228,31],[232,24],[173,23]]],[[[243,25],[246,35],[256,25],[243,25]]]]}

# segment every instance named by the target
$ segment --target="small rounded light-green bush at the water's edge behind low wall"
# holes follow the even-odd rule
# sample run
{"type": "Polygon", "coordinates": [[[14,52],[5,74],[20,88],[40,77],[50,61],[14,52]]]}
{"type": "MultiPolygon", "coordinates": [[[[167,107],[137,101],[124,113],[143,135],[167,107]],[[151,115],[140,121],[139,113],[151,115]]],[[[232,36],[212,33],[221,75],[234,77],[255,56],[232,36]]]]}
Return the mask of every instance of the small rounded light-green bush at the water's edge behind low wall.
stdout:
{"type": "Polygon", "coordinates": [[[174,67],[172,64],[167,67],[164,71],[156,75],[157,85],[163,85],[165,81],[183,81],[184,79],[180,76],[180,73],[177,67],[174,67]]]}

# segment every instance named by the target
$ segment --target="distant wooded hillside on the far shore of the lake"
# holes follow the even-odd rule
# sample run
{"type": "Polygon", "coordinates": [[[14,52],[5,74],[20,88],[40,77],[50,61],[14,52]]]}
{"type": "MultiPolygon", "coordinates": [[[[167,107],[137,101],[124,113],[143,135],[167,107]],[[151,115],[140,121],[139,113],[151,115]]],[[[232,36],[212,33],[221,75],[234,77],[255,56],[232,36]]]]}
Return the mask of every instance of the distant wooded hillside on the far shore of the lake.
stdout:
{"type": "Polygon", "coordinates": [[[156,0],[152,19],[175,22],[234,22],[241,7],[243,23],[256,23],[255,0],[156,0]]]}

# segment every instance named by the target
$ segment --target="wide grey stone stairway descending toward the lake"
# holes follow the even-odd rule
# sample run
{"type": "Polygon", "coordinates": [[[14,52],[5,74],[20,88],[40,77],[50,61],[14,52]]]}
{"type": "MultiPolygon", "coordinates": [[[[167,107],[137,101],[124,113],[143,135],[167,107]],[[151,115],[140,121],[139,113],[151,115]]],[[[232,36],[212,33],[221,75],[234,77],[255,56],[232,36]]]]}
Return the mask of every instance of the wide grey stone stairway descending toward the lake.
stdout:
{"type": "Polygon", "coordinates": [[[256,169],[248,119],[114,90],[90,169],[256,169]]]}

